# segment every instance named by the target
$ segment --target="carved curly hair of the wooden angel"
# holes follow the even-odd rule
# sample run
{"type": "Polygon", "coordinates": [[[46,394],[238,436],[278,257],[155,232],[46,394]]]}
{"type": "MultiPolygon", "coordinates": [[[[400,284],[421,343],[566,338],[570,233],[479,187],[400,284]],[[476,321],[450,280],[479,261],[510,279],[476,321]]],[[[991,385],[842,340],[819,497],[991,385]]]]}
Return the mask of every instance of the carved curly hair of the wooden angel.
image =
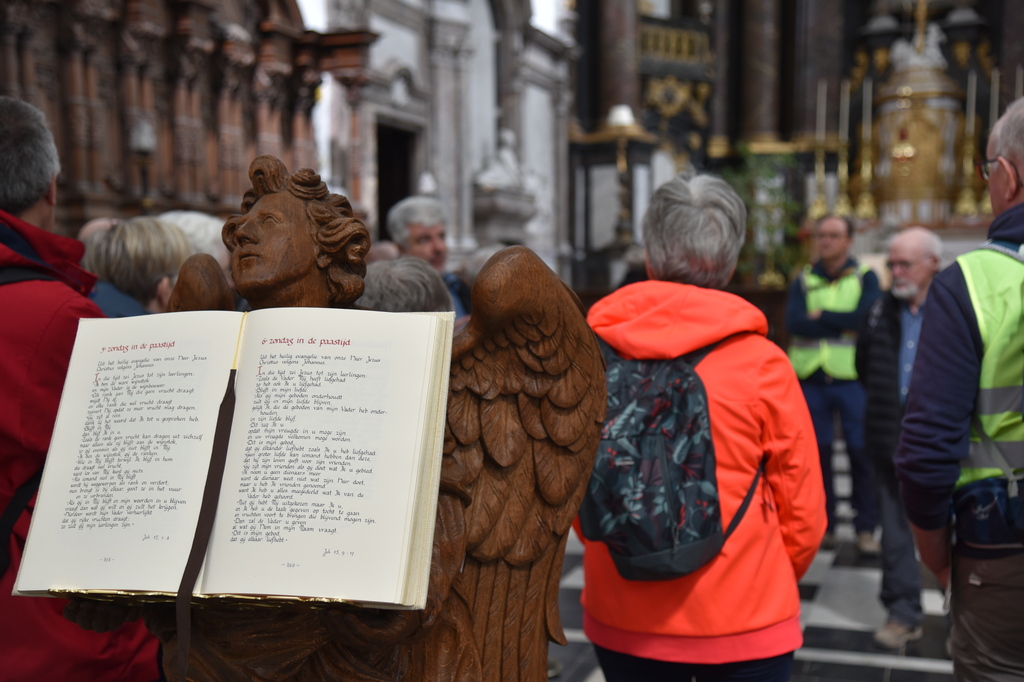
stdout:
{"type": "Polygon", "coordinates": [[[239,246],[239,223],[256,202],[266,195],[287,190],[306,205],[306,217],[312,225],[316,245],[316,266],[327,274],[331,305],[341,307],[362,295],[367,273],[366,255],[370,250],[370,231],[352,214],[348,199],[331,193],[321,176],[309,168],[289,175],[285,164],[270,156],[257,157],[249,165],[252,187],[242,198],[242,213],[224,223],[222,237],[229,251],[239,246]]]}

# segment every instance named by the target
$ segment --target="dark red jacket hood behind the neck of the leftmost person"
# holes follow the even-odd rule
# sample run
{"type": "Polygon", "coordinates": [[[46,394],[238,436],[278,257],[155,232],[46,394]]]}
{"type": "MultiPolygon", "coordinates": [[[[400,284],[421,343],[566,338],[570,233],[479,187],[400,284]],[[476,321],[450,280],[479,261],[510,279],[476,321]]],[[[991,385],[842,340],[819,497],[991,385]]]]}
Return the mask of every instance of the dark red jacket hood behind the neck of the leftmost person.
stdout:
{"type": "Polygon", "coordinates": [[[0,267],[39,270],[87,295],[96,284],[96,275],[78,264],[84,253],[85,246],[78,240],[48,232],[0,211],[0,267]]]}

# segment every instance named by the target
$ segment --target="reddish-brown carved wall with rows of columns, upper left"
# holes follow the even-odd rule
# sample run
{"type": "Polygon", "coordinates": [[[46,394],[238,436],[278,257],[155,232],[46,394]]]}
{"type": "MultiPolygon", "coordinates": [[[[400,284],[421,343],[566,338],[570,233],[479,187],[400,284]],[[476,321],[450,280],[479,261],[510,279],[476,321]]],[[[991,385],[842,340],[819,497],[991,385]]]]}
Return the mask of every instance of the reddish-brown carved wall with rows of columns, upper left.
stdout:
{"type": "Polygon", "coordinates": [[[257,152],[315,161],[325,38],[304,31],[295,0],[9,0],[0,92],[50,122],[60,231],[145,210],[223,215],[257,152]],[[148,154],[132,148],[140,126],[148,154]]]}

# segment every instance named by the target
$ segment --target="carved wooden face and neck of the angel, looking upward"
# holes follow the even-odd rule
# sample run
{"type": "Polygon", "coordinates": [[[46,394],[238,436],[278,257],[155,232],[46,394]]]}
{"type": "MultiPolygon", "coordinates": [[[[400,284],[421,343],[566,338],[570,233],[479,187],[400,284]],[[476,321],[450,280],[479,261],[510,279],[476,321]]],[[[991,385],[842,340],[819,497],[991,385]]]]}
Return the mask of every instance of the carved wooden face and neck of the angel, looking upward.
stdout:
{"type": "Polygon", "coordinates": [[[326,306],[330,292],[316,265],[305,202],[288,191],[263,196],[234,230],[231,275],[254,309],[326,306]]]}

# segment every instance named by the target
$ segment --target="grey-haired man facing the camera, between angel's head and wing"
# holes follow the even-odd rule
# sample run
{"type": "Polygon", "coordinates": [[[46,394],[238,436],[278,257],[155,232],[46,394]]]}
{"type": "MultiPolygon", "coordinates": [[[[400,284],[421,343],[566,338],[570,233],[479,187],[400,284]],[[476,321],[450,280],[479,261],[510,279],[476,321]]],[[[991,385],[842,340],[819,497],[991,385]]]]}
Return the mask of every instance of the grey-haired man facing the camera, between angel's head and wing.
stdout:
{"type": "Polygon", "coordinates": [[[422,258],[444,279],[444,285],[455,301],[456,317],[469,314],[469,286],[458,274],[445,270],[447,214],[441,203],[423,195],[407,197],[388,211],[387,229],[391,241],[403,254],[422,258]]]}

